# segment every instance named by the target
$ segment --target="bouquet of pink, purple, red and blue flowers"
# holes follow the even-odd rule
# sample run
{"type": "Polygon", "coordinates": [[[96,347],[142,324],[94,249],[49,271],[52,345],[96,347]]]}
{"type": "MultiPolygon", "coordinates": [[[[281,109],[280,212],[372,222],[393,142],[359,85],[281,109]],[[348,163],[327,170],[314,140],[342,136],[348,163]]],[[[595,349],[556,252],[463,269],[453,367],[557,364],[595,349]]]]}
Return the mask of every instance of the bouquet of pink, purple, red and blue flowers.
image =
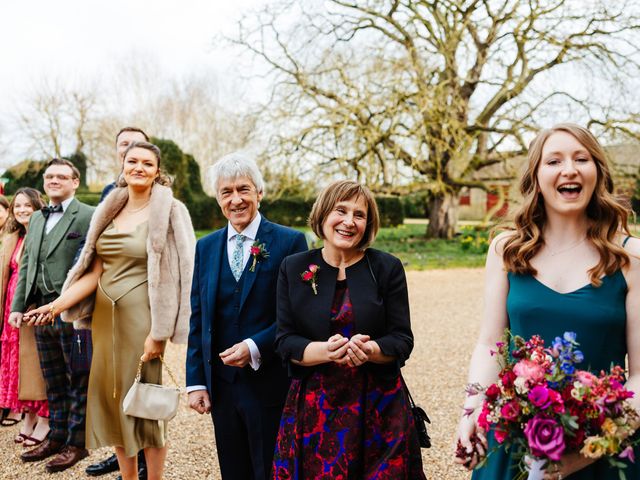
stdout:
{"type": "MultiPolygon", "coordinates": [[[[583,355],[572,332],[551,346],[539,336],[525,341],[507,334],[497,347],[499,380],[484,390],[478,425],[513,449],[520,477],[528,475],[527,460],[547,468],[559,464],[563,453],[579,451],[607,458],[624,478],[620,459],[635,460],[630,437],[639,419],[626,401],[633,392],[623,385],[624,370],[614,366],[599,375],[578,370],[583,355]]],[[[471,386],[468,394],[481,390],[471,386]]]]}

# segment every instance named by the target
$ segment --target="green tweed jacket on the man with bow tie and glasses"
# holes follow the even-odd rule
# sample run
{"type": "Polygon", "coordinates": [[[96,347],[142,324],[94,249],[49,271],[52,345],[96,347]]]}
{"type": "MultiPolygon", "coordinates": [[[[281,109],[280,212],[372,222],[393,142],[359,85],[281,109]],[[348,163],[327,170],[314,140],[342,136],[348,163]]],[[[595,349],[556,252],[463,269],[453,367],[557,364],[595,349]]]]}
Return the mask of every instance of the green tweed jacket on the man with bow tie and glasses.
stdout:
{"type": "Polygon", "coordinates": [[[41,211],[34,212],[29,221],[29,231],[25,238],[24,253],[20,264],[18,285],[11,304],[12,312],[24,312],[31,303],[30,295],[36,287],[36,275],[39,265],[45,264],[51,287],[60,294],[67,272],[73,266],[79,247],[83,244],[89,230],[89,223],[94,208],[79,202],[71,201],[64,215],[51,231],[46,258],[40,256],[40,245],[44,236],[46,220],[41,211]]]}

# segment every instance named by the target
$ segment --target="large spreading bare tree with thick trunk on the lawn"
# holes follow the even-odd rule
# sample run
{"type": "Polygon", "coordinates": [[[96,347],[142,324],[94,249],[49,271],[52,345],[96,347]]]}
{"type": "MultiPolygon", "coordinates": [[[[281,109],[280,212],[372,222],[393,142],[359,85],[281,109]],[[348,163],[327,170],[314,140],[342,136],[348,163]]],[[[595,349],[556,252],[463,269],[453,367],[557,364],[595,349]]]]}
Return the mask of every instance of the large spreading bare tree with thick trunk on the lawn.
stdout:
{"type": "Polygon", "coordinates": [[[275,77],[269,155],[379,191],[428,189],[427,234],[444,238],[460,190],[486,188],[474,172],[522,154],[541,124],[635,134],[639,3],[281,1],[232,41],[275,77]]]}

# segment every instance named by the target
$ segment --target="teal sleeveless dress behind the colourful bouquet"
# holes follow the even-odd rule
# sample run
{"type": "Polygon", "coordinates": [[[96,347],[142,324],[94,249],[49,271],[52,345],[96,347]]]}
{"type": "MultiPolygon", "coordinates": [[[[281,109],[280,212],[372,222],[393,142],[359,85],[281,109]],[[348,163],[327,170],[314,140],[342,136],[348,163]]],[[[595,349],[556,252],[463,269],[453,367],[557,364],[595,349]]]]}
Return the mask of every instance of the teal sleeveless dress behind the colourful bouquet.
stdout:
{"type": "MultiPolygon", "coordinates": [[[[611,364],[625,365],[627,283],[620,270],[602,279],[598,288],[591,284],[573,292],[558,293],[532,275],[508,274],[507,314],[514,335],[530,338],[540,335],[546,345],[555,337],[571,331],[577,334],[584,361],[578,368],[599,373],[611,364]]],[[[473,480],[511,480],[518,467],[509,453],[489,433],[492,452],[484,467],[473,472],[473,480]]],[[[628,480],[640,479],[640,448],[635,449],[638,463],[627,463],[628,480]]],[[[618,480],[618,470],[606,460],[574,473],[571,480],[618,480]]]]}

